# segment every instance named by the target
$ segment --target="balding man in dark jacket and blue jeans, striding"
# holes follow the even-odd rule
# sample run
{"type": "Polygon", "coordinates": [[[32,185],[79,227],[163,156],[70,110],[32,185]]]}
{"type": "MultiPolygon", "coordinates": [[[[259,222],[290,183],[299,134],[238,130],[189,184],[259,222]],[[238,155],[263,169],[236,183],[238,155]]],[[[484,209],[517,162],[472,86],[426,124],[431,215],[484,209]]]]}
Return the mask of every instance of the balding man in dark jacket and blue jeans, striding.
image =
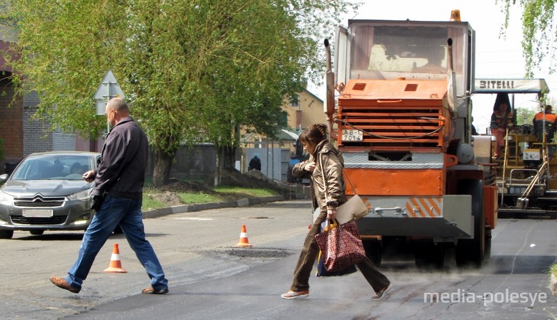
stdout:
{"type": "Polygon", "coordinates": [[[143,294],[166,294],[168,280],[149,241],[145,238],[141,200],[148,157],[145,132],[130,117],[124,99],[113,98],[107,104],[107,119],[112,127],[102,147],[102,161],[97,170],[84,173],[87,182],[95,180],[93,216],[87,228],[77,261],[65,278],[50,277],[54,285],[79,293],[97,253],[117,225],[147,271],[151,286],[143,294]]]}

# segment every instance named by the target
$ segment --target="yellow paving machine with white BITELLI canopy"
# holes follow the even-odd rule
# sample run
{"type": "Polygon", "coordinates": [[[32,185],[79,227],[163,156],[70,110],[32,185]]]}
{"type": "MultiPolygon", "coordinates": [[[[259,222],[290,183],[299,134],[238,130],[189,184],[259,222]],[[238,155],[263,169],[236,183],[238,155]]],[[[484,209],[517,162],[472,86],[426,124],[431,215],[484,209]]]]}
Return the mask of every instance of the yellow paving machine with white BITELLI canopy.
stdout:
{"type": "MultiPolygon", "coordinates": [[[[549,88],[544,79],[476,79],[474,93],[503,95],[516,115],[515,95],[533,95],[531,101],[543,111],[549,88]]],[[[491,159],[501,217],[557,215],[557,145],[553,141],[544,141],[546,132],[536,134],[532,120],[528,119],[528,123],[517,125],[510,131],[505,139],[503,157],[491,159]]],[[[540,129],[553,131],[552,125],[544,123],[540,129]]],[[[491,136],[474,138],[475,143],[485,143],[480,141],[482,139],[492,141],[491,136]]]]}

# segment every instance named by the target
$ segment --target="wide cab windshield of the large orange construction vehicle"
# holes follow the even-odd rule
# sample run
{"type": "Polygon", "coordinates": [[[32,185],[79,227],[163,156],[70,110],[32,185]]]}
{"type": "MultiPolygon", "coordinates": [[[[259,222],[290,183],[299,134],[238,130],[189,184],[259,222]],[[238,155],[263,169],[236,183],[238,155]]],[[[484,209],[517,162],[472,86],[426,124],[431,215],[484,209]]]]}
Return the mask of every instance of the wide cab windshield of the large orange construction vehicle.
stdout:
{"type": "Polygon", "coordinates": [[[350,29],[351,79],[442,79],[447,74],[448,38],[453,39],[453,68],[462,77],[466,56],[462,24],[357,23],[350,29]]]}

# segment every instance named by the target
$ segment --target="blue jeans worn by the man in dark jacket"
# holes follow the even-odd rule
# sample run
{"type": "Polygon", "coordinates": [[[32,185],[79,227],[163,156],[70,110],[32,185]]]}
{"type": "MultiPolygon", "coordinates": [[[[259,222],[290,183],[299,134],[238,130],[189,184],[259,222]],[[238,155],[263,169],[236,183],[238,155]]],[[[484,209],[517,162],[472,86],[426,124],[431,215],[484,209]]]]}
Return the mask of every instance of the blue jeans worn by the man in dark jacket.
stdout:
{"type": "Polygon", "coordinates": [[[72,287],[81,288],[97,253],[117,225],[122,228],[127,243],[130,243],[139,262],[147,271],[151,279],[151,287],[155,290],[168,287],[168,280],[164,278],[159,259],[149,241],[145,239],[141,200],[115,198],[110,195],[104,198],[100,210],[93,216],[91,224],[85,231],[77,261],[68,271],[65,280],[72,287]]]}

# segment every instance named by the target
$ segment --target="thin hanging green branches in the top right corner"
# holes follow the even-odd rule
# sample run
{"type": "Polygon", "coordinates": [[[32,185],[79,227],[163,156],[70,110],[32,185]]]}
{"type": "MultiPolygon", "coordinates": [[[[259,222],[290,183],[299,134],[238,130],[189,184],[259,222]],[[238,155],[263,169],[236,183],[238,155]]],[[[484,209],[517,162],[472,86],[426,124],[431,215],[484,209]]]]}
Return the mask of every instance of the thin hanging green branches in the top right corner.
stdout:
{"type": "MultiPolygon", "coordinates": [[[[497,1],[497,0],[496,0],[497,1]]],[[[526,58],[526,77],[534,76],[534,69],[539,69],[540,63],[549,56],[550,61],[555,61],[557,45],[554,41],[556,22],[554,20],[555,0],[500,0],[503,3],[505,23],[503,29],[508,27],[510,21],[510,6],[517,5],[524,8],[522,15],[522,50],[526,58]]],[[[555,71],[555,65],[549,66],[549,72],[555,71]]]]}

